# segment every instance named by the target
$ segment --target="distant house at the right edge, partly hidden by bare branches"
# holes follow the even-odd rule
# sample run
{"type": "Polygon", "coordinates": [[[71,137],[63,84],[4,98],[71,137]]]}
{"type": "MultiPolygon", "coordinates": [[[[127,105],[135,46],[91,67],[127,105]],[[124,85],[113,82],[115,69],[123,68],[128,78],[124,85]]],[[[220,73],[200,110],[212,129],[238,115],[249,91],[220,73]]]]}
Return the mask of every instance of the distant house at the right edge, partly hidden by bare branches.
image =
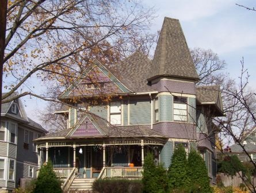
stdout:
{"type": "MultiPolygon", "coordinates": [[[[247,134],[244,135],[241,145],[244,146],[244,149],[249,154],[253,161],[256,161],[256,126],[250,129],[247,134]]],[[[230,155],[237,155],[239,159],[243,162],[251,161],[250,157],[244,152],[242,146],[238,143],[230,146],[230,155]]]]}

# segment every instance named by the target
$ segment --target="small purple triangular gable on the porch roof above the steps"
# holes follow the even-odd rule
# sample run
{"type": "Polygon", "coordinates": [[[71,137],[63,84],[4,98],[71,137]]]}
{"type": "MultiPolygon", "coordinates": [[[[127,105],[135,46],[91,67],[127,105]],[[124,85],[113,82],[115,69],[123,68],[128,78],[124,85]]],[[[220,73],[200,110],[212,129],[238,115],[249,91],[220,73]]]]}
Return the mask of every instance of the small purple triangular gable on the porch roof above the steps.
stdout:
{"type": "Polygon", "coordinates": [[[86,115],[75,125],[67,137],[90,137],[90,136],[104,136],[104,132],[95,123],[90,115],[86,115]]]}

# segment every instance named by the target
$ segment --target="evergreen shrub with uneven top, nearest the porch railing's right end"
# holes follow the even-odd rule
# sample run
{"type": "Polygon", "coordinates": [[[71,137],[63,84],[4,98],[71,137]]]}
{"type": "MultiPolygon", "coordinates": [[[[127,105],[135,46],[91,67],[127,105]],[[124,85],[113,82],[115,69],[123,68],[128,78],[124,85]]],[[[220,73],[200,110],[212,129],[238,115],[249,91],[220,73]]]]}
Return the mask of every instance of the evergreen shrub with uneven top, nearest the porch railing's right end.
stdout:
{"type": "Polygon", "coordinates": [[[164,193],[168,188],[166,170],[163,165],[155,165],[151,153],[144,160],[142,183],[144,193],[164,193]]]}

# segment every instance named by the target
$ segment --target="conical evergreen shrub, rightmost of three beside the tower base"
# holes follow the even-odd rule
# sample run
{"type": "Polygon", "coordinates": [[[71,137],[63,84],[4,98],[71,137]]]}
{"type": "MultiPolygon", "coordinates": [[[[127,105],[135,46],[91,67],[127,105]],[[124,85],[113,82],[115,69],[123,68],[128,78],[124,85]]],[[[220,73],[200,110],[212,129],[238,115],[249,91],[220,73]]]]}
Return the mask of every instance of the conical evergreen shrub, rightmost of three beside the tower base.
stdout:
{"type": "Polygon", "coordinates": [[[192,192],[212,192],[205,162],[200,154],[193,149],[188,156],[188,175],[190,177],[190,189],[192,192]]]}

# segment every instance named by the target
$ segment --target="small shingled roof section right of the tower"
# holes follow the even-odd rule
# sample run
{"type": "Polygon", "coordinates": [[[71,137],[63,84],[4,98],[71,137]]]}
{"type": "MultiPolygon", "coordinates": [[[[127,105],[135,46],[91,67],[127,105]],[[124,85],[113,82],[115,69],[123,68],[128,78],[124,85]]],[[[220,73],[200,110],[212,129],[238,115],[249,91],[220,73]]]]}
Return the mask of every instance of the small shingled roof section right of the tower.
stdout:
{"type": "Polygon", "coordinates": [[[219,91],[219,86],[200,86],[196,88],[196,96],[201,103],[216,103],[219,98],[219,91]]]}

